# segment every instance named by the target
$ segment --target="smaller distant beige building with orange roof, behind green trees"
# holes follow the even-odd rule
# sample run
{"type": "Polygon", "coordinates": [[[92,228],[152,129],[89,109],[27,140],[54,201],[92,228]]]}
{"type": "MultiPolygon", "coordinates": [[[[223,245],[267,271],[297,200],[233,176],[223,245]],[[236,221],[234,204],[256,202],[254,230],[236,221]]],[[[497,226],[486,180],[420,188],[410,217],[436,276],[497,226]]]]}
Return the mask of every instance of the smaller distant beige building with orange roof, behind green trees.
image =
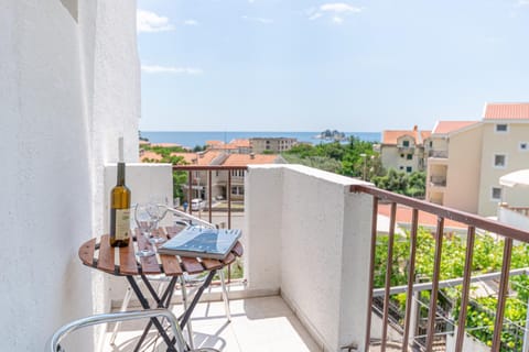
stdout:
{"type": "Polygon", "coordinates": [[[429,136],[430,131],[419,131],[417,125],[411,131],[384,131],[380,144],[382,167],[406,173],[424,170],[428,157],[424,141],[429,136]]]}

